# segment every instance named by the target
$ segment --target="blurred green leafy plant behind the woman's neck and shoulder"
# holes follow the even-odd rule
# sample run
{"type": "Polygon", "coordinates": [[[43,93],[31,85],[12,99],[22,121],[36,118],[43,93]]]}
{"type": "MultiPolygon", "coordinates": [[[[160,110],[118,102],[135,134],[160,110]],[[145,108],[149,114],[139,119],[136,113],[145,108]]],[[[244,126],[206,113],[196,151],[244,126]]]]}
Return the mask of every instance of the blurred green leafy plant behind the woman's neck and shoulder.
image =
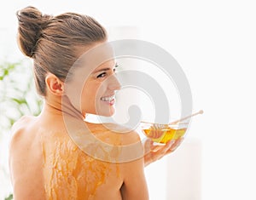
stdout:
{"type": "MultiPolygon", "coordinates": [[[[43,100],[36,93],[32,63],[28,60],[0,64],[0,140],[8,138],[12,125],[24,115],[37,116],[43,100]],[[5,137],[4,137],[5,136],[5,137]]],[[[0,166],[9,179],[6,166],[0,166]]],[[[12,191],[9,191],[12,192],[12,191]]],[[[13,199],[10,193],[5,200],[13,199]]]]}

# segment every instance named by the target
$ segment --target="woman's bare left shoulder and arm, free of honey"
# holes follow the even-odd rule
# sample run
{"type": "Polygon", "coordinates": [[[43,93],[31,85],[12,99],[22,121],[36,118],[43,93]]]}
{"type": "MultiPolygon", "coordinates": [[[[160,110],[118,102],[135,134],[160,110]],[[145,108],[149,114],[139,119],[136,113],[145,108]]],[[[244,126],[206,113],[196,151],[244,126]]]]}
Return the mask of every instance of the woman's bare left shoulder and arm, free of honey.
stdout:
{"type": "Polygon", "coordinates": [[[42,147],[35,126],[37,117],[21,117],[12,127],[9,141],[9,172],[14,197],[43,199],[42,147]],[[37,177],[35,179],[35,177],[37,177]],[[26,184],[24,184],[26,183],[26,184]]]}

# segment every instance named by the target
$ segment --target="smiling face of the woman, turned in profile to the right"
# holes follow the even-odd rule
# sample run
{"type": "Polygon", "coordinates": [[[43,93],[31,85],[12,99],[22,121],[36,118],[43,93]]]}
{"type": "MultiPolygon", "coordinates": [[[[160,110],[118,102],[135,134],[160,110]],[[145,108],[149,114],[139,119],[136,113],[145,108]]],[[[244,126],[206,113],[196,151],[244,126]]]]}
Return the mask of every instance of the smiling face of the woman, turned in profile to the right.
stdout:
{"type": "Polygon", "coordinates": [[[66,95],[84,117],[85,114],[112,116],[114,94],[120,89],[113,49],[108,43],[96,43],[80,52],[85,53],[80,56],[78,67],[73,68],[71,81],[66,83],[66,95]]]}

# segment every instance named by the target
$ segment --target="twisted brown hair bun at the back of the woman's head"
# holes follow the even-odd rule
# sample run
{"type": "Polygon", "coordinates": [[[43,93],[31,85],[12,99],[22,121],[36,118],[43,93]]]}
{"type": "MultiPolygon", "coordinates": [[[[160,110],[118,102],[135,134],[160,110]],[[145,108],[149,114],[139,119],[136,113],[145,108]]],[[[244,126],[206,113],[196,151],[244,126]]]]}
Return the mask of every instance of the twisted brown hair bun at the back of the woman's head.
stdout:
{"type": "Polygon", "coordinates": [[[18,43],[23,54],[32,57],[37,49],[42,30],[48,25],[50,16],[42,14],[38,9],[29,6],[17,13],[19,20],[18,43]]]}

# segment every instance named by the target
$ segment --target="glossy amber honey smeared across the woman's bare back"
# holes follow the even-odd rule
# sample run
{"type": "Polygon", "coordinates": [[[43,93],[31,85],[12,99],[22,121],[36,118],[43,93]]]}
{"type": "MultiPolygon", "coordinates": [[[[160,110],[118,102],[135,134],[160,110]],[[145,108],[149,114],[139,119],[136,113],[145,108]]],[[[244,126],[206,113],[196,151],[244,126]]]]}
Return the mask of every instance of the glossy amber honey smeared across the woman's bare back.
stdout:
{"type": "Polygon", "coordinates": [[[42,140],[44,190],[47,199],[94,199],[109,174],[119,177],[119,164],[96,160],[62,136],[42,140]]]}

